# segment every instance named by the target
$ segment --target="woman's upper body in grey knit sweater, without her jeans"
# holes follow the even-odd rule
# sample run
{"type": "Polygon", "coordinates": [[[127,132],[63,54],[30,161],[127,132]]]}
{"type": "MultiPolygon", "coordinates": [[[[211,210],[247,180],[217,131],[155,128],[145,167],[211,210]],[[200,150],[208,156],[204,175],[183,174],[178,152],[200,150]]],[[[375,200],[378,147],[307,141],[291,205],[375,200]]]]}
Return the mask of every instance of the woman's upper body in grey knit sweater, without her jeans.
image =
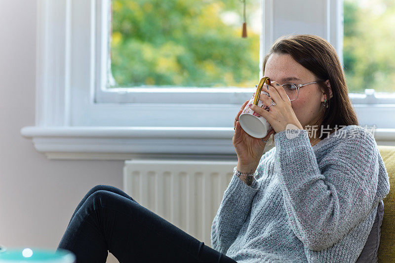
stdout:
{"type": "Polygon", "coordinates": [[[241,129],[240,110],[237,170],[212,248],[237,262],[356,262],[390,184],[374,137],[358,126],[336,51],[317,36],[288,36],[263,65],[274,80],[260,95],[269,111],[249,107],[272,125],[276,147],[262,156],[266,142],[241,129]]]}

